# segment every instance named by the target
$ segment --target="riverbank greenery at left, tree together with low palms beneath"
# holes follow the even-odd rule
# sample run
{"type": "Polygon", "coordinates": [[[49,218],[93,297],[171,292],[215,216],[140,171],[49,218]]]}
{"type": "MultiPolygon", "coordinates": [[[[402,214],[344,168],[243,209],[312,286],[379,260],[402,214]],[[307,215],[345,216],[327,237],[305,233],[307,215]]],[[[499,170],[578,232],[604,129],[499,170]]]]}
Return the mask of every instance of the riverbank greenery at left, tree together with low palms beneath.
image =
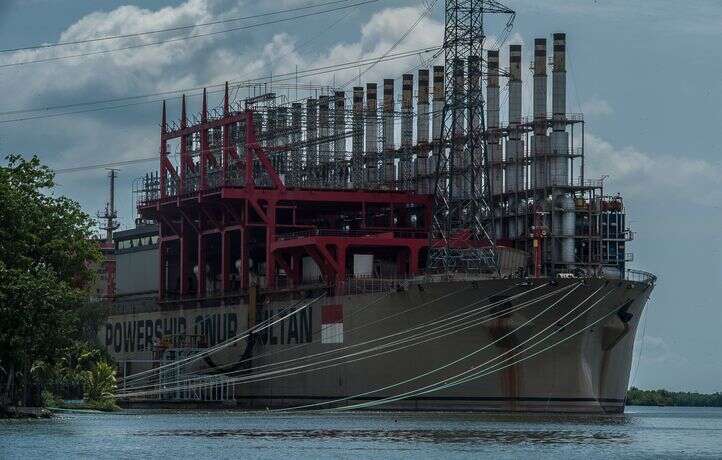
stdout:
{"type": "Polygon", "coordinates": [[[0,166],[0,407],[40,406],[43,391],[114,405],[115,373],[87,324],[101,260],[94,222],[56,196],[53,172],[33,157],[0,166]]]}

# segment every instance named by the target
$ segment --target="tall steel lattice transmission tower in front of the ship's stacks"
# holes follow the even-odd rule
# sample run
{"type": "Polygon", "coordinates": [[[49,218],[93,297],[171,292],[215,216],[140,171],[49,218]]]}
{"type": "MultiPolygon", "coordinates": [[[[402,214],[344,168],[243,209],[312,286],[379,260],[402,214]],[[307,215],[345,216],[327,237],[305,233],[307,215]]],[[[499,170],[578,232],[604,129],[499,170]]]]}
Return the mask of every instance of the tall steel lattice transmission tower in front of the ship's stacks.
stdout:
{"type": "Polygon", "coordinates": [[[437,145],[431,271],[495,271],[482,93],[484,15],[514,11],[494,0],[446,0],[444,123],[437,145]]]}

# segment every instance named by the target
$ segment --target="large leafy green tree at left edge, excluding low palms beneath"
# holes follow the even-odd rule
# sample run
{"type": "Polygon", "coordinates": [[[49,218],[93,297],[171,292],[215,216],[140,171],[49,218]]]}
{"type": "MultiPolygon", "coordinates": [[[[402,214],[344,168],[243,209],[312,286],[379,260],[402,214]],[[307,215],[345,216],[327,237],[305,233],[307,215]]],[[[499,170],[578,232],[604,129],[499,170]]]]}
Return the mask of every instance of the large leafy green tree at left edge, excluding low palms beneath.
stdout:
{"type": "Polygon", "coordinates": [[[27,403],[34,366],[53,365],[78,337],[77,309],[101,257],[93,221],[53,187],[37,157],[0,166],[0,395],[10,401],[15,388],[27,403]]]}

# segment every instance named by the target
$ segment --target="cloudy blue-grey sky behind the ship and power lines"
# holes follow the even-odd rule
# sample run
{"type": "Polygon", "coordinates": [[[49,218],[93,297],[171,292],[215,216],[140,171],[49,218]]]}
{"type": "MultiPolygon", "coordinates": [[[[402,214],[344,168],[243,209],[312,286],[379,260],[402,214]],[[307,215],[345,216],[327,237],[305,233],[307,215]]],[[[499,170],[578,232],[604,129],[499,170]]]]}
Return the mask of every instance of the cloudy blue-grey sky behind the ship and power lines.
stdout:
{"type": "MultiPolygon", "coordinates": [[[[0,0],[0,47],[206,23],[307,5],[307,0],[0,0]]],[[[353,2],[352,2],[353,3],[353,2]]],[[[517,12],[504,43],[567,33],[568,112],[586,120],[587,177],[621,193],[635,231],[632,268],[659,277],[640,324],[631,384],[641,388],[722,391],[722,4],[695,0],[508,0],[517,12]]],[[[189,33],[221,30],[269,17],[60,48],[0,52],[0,153],[37,154],[62,169],[149,158],[159,147],[160,103],[17,120],[52,111],[12,113],[77,102],[196,88],[383,54],[419,17],[425,3],[379,0],[326,14],[106,53],[189,33]],[[60,55],[82,58],[7,66],[60,55]]],[[[443,2],[396,51],[440,44],[443,2]]],[[[326,7],[330,8],[330,7],[326,7]]],[[[288,14],[287,16],[299,13],[288,14]]],[[[501,18],[489,18],[489,44],[501,18]]],[[[505,59],[502,49],[502,63],[505,59]]],[[[362,83],[398,78],[419,57],[381,63],[362,83]]],[[[358,70],[313,77],[330,85],[358,70]]],[[[529,74],[524,111],[531,105],[529,74]]],[[[301,83],[309,82],[308,79],[301,83]]],[[[244,97],[244,90],[239,91],[244,97]]],[[[289,97],[293,90],[288,90],[289,97]]],[[[219,101],[211,97],[211,104],[219,101]]],[[[148,101],[141,99],[136,102],[148,101]]],[[[197,107],[197,97],[190,104],[197,107]]],[[[120,104],[116,104],[120,105],[120,104]]],[[[178,100],[169,99],[169,117],[178,100]]],[[[65,112],[77,108],[65,109],[65,112]]],[[[132,226],[133,180],[152,162],[121,167],[117,183],[123,227],[132,226]]],[[[103,168],[57,176],[57,193],[94,215],[107,201],[103,168]]]]}

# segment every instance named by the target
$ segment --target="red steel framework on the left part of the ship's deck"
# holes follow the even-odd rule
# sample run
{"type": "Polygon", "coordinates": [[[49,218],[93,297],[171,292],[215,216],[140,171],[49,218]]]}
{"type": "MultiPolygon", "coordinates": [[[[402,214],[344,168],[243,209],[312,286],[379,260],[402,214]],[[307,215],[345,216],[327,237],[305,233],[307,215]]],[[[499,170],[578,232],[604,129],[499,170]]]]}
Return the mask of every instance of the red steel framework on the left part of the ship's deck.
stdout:
{"type": "Polygon", "coordinates": [[[200,122],[188,124],[183,98],[180,125],[171,130],[163,103],[158,192],[139,204],[141,217],[159,227],[161,301],[243,295],[252,284],[251,261],[265,263],[257,284],[268,290],[301,285],[303,257],[313,259],[323,283],[337,292],[351,272],[350,256],[359,251],[395,261],[398,275],[420,271],[432,195],[287,187],[257,141],[254,113],[248,107],[230,110],[226,84],[222,116],[209,118],[204,91],[200,122]],[[218,129],[220,156],[209,145],[209,133],[218,129]],[[231,141],[233,129],[245,131],[244,152],[231,141]],[[198,138],[200,154],[193,156],[189,144],[198,138]],[[180,141],[178,167],[169,159],[171,140],[180,141]],[[220,173],[220,181],[211,180],[209,168],[220,173]],[[191,175],[197,182],[190,183],[191,175]],[[279,283],[279,268],[285,283],[279,283]],[[215,279],[219,286],[209,288],[215,279]]]}

